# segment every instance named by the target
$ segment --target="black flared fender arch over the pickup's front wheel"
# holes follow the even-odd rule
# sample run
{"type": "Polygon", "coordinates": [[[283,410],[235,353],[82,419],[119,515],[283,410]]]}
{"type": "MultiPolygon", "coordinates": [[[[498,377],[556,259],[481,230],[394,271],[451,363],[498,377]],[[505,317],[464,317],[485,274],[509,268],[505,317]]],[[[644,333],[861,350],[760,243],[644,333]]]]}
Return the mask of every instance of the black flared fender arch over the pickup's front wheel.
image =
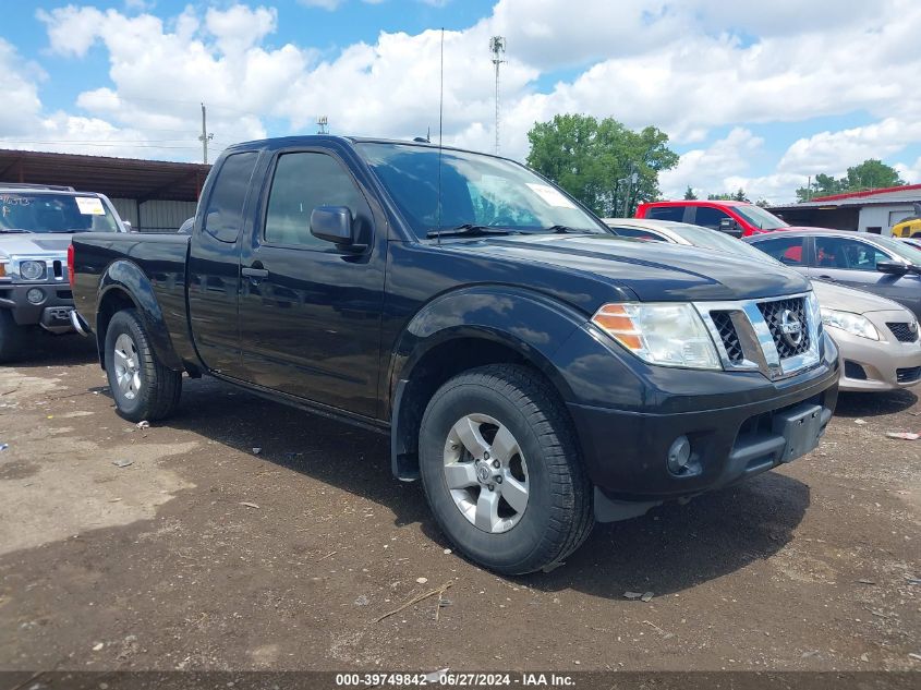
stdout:
{"type": "Polygon", "coordinates": [[[553,355],[584,320],[550,298],[518,289],[459,290],[423,307],[398,338],[387,379],[393,475],[419,479],[422,415],[435,391],[461,372],[520,364],[546,378],[561,400],[570,399],[553,355]]]}

